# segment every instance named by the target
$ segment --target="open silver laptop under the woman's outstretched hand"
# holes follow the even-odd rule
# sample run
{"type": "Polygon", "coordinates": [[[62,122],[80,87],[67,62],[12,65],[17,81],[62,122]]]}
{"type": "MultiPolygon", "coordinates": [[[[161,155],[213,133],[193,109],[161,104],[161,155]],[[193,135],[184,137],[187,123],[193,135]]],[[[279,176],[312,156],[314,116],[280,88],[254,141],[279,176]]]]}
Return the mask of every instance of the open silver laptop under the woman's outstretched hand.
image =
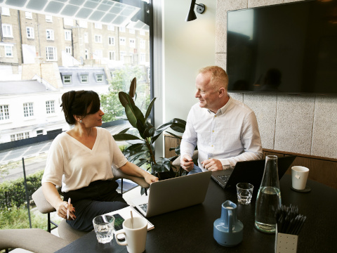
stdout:
{"type": "Polygon", "coordinates": [[[131,200],[145,217],[175,211],[204,202],[211,171],[154,182],[148,195],[131,200]]]}

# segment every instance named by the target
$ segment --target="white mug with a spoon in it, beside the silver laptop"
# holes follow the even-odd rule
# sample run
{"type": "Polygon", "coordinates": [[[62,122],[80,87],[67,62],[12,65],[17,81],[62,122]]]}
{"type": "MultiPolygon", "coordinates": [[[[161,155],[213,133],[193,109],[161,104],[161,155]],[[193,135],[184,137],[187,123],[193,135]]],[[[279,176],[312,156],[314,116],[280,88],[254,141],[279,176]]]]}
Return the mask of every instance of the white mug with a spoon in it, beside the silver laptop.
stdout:
{"type": "Polygon", "coordinates": [[[129,253],[142,253],[145,251],[147,234],[147,220],[142,217],[133,217],[123,222],[123,229],[115,233],[114,238],[119,245],[126,245],[129,253]],[[119,241],[117,235],[124,234],[124,242],[119,241]]]}

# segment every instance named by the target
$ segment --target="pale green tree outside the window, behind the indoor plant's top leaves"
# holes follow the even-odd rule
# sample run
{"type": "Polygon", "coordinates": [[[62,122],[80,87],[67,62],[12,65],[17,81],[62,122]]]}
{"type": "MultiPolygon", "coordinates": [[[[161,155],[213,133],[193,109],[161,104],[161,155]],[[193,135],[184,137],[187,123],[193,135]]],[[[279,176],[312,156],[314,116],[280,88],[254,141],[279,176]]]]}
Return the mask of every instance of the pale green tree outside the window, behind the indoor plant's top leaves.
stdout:
{"type": "MultiPolygon", "coordinates": [[[[138,79],[144,79],[146,70],[144,67],[124,65],[120,70],[113,72],[113,79],[110,82],[109,93],[103,94],[100,97],[100,102],[103,108],[103,121],[110,122],[121,117],[125,117],[124,108],[119,103],[119,92],[129,89],[130,80],[133,77],[138,79]]],[[[140,91],[138,92],[138,98],[140,98],[138,107],[140,110],[144,110],[145,106],[150,101],[150,84],[143,82],[140,85],[140,91]]],[[[134,91],[136,92],[136,90],[134,91]]]]}

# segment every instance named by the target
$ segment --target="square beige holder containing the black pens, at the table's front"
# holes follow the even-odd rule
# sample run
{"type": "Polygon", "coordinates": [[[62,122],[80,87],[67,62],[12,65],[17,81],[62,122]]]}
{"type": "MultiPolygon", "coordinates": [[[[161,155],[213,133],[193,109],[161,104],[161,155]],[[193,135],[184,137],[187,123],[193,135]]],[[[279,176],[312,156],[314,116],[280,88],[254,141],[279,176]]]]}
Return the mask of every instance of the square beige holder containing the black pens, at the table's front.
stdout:
{"type": "Polygon", "coordinates": [[[275,233],[275,253],[296,253],[298,235],[289,235],[285,233],[275,233]]]}

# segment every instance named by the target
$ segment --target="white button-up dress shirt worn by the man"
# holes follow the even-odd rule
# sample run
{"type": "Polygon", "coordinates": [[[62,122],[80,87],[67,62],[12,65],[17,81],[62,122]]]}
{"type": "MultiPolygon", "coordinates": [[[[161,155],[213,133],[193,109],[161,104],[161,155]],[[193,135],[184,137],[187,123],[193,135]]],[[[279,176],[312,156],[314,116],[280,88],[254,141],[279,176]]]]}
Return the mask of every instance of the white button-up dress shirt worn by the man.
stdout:
{"type": "Polygon", "coordinates": [[[199,167],[211,158],[220,160],[223,169],[234,167],[239,161],[262,159],[262,145],[256,115],[248,106],[230,97],[216,114],[199,103],[192,106],[188,116],[183,140],[180,143],[181,157],[192,157],[198,147],[199,167]]]}

